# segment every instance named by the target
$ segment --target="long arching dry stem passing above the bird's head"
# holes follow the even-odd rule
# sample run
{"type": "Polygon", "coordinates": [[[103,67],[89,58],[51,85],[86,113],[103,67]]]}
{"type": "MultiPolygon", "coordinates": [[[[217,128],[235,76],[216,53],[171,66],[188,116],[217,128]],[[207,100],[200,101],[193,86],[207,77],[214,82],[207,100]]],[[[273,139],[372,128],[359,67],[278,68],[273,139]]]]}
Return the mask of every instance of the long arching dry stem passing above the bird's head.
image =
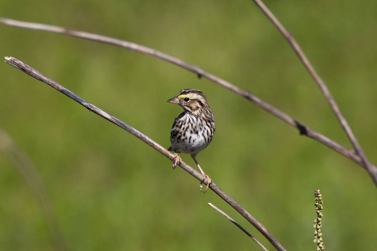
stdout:
{"type": "MultiPolygon", "coordinates": [[[[259,2],[259,1],[258,1],[259,2]]],[[[365,161],[359,156],[359,154],[356,154],[354,151],[349,150],[345,148],[344,146],[340,145],[339,143],[331,140],[330,138],[326,137],[323,134],[320,134],[319,132],[316,132],[312,129],[310,129],[308,126],[303,125],[302,123],[296,121],[292,117],[288,116],[287,114],[283,113],[282,111],[278,110],[277,108],[271,106],[270,104],[264,102],[263,100],[259,99],[258,97],[252,95],[250,92],[244,91],[237,86],[230,84],[229,82],[225,81],[224,79],[221,79],[211,73],[208,73],[207,71],[202,70],[201,68],[187,64],[186,62],[175,58],[173,56],[167,55],[166,53],[159,52],[157,50],[150,49],[146,46],[141,46],[139,44],[131,43],[128,41],[106,37],[103,35],[98,35],[90,32],[84,32],[80,30],[71,30],[64,27],[59,26],[53,26],[48,24],[40,24],[40,23],[30,23],[30,22],[24,22],[24,21],[18,21],[18,20],[12,20],[8,18],[0,18],[0,23],[14,26],[14,27],[20,27],[20,28],[26,28],[26,29],[34,29],[34,30],[44,30],[48,32],[55,32],[63,35],[69,35],[73,37],[83,38],[87,40],[97,41],[101,43],[106,44],[112,44],[115,46],[120,46],[135,52],[142,53],[144,55],[153,56],[155,58],[162,59],[164,61],[170,62],[172,64],[178,65],[182,68],[185,68],[189,71],[192,71],[193,73],[196,73],[198,76],[207,78],[208,80],[221,85],[224,88],[227,88],[228,90],[232,91],[233,93],[238,94],[239,96],[244,97],[245,99],[249,100],[250,102],[254,103],[259,108],[267,111],[268,113],[274,115],[275,117],[279,118],[280,120],[284,121],[290,126],[293,126],[294,128],[297,128],[301,135],[306,135],[309,138],[312,138],[316,141],[319,141],[325,146],[328,146],[329,148],[333,149],[334,151],[338,152],[339,154],[342,154],[346,158],[349,158],[350,160],[354,161],[356,164],[362,167],[367,167],[365,161]]],[[[374,176],[377,177],[377,168],[375,166],[369,166],[369,173],[374,173],[374,176]]]]}

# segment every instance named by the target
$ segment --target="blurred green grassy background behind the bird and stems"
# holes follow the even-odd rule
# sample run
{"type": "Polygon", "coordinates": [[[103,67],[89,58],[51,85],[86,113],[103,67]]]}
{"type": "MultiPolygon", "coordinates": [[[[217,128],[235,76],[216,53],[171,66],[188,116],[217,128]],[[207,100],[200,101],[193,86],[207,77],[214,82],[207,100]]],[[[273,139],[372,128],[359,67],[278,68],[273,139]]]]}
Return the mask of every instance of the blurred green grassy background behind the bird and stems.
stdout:
{"type": "MultiPolygon", "coordinates": [[[[328,84],[372,163],[377,125],[377,2],[266,1],[328,84]]],[[[252,1],[0,1],[0,16],[152,47],[250,91],[350,148],[316,84],[252,1]]],[[[169,146],[183,88],[202,90],[216,120],[197,160],[288,250],[315,250],[314,190],[329,250],[375,250],[377,190],[364,169],[224,88],[119,47],[0,25],[13,56],[169,146]]],[[[230,206],[112,123],[5,62],[0,127],[33,161],[70,250],[261,250],[230,206]]],[[[182,159],[195,166],[189,155],[182,159]]],[[[1,250],[54,250],[40,207],[0,152],[1,250]]]]}

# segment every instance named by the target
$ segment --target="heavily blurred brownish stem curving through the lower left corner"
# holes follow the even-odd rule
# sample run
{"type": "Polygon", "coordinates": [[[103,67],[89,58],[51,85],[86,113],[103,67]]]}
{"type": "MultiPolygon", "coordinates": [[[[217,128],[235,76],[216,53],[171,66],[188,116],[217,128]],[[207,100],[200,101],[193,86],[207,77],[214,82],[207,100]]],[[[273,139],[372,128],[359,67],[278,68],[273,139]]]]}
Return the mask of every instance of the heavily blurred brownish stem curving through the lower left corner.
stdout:
{"type": "Polygon", "coordinates": [[[44,221],[51,233],[55,249],[66,251],[68,250],[63,234],[61,233],[58,220],[55,216],[54,208],[52,207],[49,196],[44,188],[42,179],[35,170],[34,164],[21,149],[16,145],[14,140],[8,133],[0,128],[0,151],[5,152],[14,166],[20,172],[22,178],[28,184],[32,193],[38,202],[38,205],[42,211],[44,221]]]}

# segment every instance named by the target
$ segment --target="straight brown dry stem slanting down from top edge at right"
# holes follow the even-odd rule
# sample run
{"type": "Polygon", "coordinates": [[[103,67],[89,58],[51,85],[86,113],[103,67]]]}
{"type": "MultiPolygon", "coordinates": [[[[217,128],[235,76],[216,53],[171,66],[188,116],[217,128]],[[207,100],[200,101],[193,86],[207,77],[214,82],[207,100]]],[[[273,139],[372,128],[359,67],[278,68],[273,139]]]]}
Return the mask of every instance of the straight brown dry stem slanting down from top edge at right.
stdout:
{"type": "Polygon", "coordinates": [[[361,148],[359,141],[357,141],[357,138],[353,134],[351,127],[349,126],[348,122],[346,121],[345,117],[343,116],[342,112],[339,109],[339,106],[335,102],[333,96],[331,95],[330,91],[328,90],[325,82],[320,78],[316,70],[314,69],[313,65],[311,65],[309,59],[305,55],[305,53],[300,48],[297,41],[294,39],[293,35],[288,32],[287,29],[277,20],[277,18],[272,14],[272,12],[267,8],[267,6],[264,5],[264,3],[261,0],[253,0],[256,5],[264,12],[264,14],[268,17],[268,19],[271,20],[271,22],[276,26],[276,28],[282,33],[284,38],[288,41],[288,43],[293,48],[294,52],[297,54],[297,56],[300,58],[302,64],[307,68],[309,74],[314,79],[314,81],[317,83],[318,87],[322,91],[323,96],[329,103],[331,109],[333,110],[335,116],[339,120],[340,125],[342,126],[343,130],[345,131],[349,141],[351,142],[356,155],[359,156],[360,161],[362,163],[362,166],[366,168],[369,175],[371,176],[372,180],[374,181],[374,184],[377,186],[377,172],[374,166],[369,162],[368,158],[366,157],[363,149],[361,148]]]}

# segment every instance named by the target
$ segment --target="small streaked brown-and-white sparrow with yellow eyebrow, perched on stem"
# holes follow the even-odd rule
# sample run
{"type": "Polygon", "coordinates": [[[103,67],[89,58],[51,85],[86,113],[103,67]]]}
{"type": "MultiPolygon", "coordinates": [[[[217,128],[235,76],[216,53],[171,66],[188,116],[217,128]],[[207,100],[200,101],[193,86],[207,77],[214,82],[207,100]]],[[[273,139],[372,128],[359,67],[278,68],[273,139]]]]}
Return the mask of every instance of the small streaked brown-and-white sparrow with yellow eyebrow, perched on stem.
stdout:
{"type": "Polygon", "coordinates": [[[201,192],[203,192],[202,183],[207,180],[207,187],[203,192],[205,193],[211,183],[211,178],[203,172],[195,158],[200,151],[211,143],[213,134],[215,134],[215,118],[211,108],[204,94],[194,89],[183,89],[167,102],[178,104],[183,108],[183,113],[179,114],[178,118],[174,120],[170,131],[170,143],[172,145],[169,151],[173,151],[175,155],[173,169],[177,163],[182,161],[178,153],[190,154],[200,172],[204,175],[204,179],[199,185],[201,192]]]}

